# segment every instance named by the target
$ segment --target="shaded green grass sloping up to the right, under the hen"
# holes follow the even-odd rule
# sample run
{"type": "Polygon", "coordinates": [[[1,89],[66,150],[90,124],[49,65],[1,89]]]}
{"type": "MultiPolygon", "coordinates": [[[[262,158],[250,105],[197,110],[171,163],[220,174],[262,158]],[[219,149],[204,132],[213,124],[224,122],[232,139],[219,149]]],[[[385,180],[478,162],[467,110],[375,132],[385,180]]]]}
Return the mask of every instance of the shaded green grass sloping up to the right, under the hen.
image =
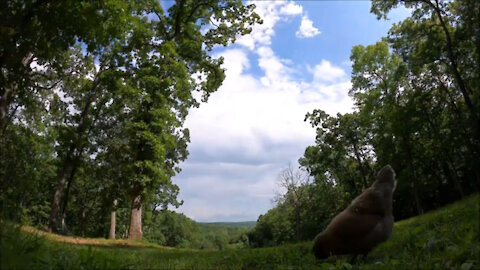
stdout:
{"type": "Polygon", "coordinates": [[[261,249],[201,251],[146,242],[84,239],[1,225],[2,269],[480,269],[479,200],[471,196],[395,224],[365,261],[317,261],[311,242],[261,249]]]}

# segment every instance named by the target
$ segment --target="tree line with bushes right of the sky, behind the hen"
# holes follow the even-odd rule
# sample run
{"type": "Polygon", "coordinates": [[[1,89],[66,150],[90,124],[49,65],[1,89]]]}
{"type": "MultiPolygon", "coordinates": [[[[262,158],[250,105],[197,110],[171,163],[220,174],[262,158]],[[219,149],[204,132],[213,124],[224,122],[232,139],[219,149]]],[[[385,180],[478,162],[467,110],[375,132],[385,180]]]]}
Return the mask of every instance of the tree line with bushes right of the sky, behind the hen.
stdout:
{"type": "Polygon", "coordinates": [[[374,0],[371,12],[387,18],[397,6],[411,15],[352,48],[355,111],[306,115],[316,142],[280,175],[285,193],[259,217],[252,246],[313,239],[386,164],[396,220],[480,190],[480,2],[374,0]]]}

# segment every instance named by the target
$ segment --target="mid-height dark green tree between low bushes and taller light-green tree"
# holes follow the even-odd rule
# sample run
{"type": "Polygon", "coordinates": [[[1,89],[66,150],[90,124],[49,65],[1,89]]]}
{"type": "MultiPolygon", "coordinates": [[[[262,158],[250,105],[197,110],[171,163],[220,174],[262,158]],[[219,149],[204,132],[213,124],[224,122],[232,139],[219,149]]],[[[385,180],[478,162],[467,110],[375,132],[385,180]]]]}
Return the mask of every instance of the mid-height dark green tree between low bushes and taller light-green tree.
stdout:
{"type": "Polygon", "coordinates": [[[352,198],[360,194],[373,181],[371,164],[374,159],[360,115],[351,113],[333,117],[322,110],[314,110],[306,115],[305,120],[317,129],[317,144],[305,150],[300,165],[315,177],[328,175],[352,198]]]}

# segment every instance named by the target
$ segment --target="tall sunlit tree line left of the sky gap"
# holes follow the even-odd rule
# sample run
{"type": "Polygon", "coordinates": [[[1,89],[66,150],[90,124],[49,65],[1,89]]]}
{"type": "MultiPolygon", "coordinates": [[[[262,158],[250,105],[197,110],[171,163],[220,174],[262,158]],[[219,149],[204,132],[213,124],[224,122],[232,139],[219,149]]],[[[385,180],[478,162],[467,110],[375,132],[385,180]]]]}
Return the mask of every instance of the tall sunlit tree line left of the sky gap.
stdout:
{"type": "Polygon", "coordinates": [[[224,79],[212,48],[261,23],[254,5],[0,2],[2,218],[130,239],[154,237],[142,219],[181,219],[167,208],[182,203],[185,118],[224,79]]]}

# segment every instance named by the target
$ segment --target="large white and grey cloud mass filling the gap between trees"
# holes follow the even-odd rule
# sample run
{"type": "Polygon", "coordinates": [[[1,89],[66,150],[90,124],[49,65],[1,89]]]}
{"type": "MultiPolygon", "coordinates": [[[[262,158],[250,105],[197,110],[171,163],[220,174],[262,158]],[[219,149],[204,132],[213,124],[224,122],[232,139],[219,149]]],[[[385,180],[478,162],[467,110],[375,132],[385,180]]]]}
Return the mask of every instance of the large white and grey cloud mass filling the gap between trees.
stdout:
{"type": "Polygon", "coordinates": [[[303,8],[292,1],[256,4],[264,25],[240,38],[240,46],[217,51],[215,57],[224,57],[226,79],[185,123],[190,156],[174,182],[185,201],[179,211],[197,221],[256,220],[272,207],[280,171],[314,143],[315,130],[304,122],[305,114],[353,107],[343,69],[322,60],[298,70],[270,46],[275,25],[300,16],[303,8]],[[297,72],[309,78],[300,80],[297,72]]]}

